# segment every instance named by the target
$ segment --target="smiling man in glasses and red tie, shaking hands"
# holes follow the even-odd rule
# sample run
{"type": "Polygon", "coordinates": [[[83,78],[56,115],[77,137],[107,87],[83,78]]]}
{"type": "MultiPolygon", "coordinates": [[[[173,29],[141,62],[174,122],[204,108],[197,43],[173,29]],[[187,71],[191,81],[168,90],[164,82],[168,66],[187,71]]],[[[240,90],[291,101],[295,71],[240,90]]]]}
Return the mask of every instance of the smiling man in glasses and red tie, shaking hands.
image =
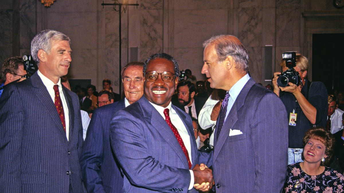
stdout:
{"type": "Polygon", "coordinates": [[[211,170],[201,171],[198,164],[211,163],[211,157],[197,151],[191,117],[171,104],[178,63],[168,54],[154,54],[143,75],[144,96],[116,112],[110,123],[111,145],[125,173],[122,192],[195,192],[194,183],[202,182],[207,189],[211,170]]]}

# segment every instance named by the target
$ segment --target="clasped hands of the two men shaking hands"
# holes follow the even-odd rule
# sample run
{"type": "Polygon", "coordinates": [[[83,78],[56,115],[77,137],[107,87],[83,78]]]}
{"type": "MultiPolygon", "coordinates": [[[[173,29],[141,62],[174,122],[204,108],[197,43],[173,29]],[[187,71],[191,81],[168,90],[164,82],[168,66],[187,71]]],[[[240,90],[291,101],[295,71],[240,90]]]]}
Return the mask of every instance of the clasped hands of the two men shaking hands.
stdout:
{"type": "Polygon", "coordinates": [[[212,170],[204,163],[196,164],[192,169],[194,173],[194,188],[202,192],[210,190],[215,184],[212,170]]]}

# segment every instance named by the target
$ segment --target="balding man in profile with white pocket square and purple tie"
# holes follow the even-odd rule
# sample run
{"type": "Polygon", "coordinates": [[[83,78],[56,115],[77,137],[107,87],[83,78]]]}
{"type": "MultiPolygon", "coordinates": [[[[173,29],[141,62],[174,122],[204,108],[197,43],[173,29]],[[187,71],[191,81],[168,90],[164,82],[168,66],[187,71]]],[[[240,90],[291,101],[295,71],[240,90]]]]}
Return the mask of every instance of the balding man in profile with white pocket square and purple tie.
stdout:
{"type": "Polygon", "coordinates": [[[204,42],[202,73],[227,91],[214,132],[216,193],[280,192],[288,158],[287,112],[278,96],[248,75],[239,39],[219,35],[204,42]]]}

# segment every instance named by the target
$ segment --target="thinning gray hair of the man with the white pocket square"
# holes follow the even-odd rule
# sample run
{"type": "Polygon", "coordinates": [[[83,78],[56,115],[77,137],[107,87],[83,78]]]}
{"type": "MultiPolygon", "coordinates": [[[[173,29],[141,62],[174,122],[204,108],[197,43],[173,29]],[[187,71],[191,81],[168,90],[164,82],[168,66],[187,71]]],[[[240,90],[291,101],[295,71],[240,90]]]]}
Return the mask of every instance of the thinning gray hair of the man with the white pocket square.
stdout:
{"type": "Polygon", "coordinates": [[[215,45],[218,62],[224,61],[227,56],[232,56],[237,63],[236,68],[248,72],[248,54],[244,45],[233,35],[217,35],[206,40],[203,47],[215,45]]]}

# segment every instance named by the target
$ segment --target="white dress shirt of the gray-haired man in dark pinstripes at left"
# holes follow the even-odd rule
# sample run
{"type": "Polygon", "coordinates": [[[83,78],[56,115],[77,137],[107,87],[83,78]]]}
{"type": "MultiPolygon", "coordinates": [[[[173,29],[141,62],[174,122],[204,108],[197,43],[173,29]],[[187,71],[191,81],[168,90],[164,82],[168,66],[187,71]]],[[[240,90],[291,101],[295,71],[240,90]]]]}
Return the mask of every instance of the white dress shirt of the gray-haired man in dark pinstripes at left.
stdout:
{"type": "MultiPolygon", "coordinates": [[[[53,81],[51,81],[49,78],[47,78],[46,76],[44,76],[40,70],[37,70],[37,74],[38,76],[41,78],[44,86],[46,87],[47,91],[50,94],[51,100],[53,101],[53,104],[55,103],[55,91],[54,91],[54,85],[55,83],[53,81]]],[[[67,101],[66,98],[63,94],[62,91],[62,84],[61,84],[61,79],[58,79],[57,82],[58,85],[58,91],[60,92],[60,97],[61,97],[61,101],[62,101],[62,106],[63,106],[63,112],[64,112],[64,116],[65,116],[65,122],[66,122],[66,137],[67,140],[69,140],[69,111],[68,111],[68,106],[67,106],[67,101]]],[[[55,105],[54,105],[55,106],[55,105]]],[[[57,110],[56,110],[57,111],[57,110]]],[[[59,117],[60,118],[60,117],[59,117]]]]}

